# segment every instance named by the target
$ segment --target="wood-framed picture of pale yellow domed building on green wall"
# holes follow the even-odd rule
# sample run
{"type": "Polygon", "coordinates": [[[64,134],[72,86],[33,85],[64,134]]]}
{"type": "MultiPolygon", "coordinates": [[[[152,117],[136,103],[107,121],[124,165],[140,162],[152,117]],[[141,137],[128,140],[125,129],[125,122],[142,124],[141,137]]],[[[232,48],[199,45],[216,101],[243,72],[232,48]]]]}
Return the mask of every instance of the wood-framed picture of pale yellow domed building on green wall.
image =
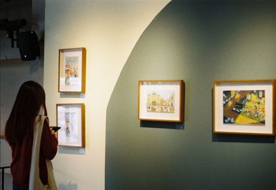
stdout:
{"type": "Polygon", "coordinates": [[[183,121],[184,81],[139,81],[139,120],[183,121]]]}

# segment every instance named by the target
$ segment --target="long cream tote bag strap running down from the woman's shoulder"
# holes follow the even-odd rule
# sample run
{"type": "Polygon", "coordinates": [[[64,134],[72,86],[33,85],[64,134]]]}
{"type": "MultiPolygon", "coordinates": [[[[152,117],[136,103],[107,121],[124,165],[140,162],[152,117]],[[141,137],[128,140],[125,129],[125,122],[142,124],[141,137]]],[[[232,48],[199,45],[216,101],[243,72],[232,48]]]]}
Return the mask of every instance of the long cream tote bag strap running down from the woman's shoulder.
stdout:
{"type": "Polygon", "coordinates": [[[34,120],[34,138],[32,142],[32,162],[30,165],[29,190],[44,189],[39,178],[39,153],[41,134],[46,116],[37,116],[34,120]]]}

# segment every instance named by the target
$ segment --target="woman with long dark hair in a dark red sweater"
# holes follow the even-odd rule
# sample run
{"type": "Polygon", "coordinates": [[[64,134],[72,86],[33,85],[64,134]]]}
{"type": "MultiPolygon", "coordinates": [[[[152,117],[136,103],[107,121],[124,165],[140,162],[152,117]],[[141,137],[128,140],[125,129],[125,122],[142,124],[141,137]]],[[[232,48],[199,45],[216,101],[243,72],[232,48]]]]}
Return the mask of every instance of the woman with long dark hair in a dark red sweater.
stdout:
{"type": "MultiPolygon", "coordinates": [[[[12,188],[28,189],[34,121],[38,115],[47,116],[46,98],[43,87],[34,81],[23,83],[6,123],[5,137],[12,148],[12,188]]],[[[39,153],[39,177],[48,184],[46,159],[52,160],[57,154],[55,131],[49,128],[48,119],[43,123],[39,153]]]]}

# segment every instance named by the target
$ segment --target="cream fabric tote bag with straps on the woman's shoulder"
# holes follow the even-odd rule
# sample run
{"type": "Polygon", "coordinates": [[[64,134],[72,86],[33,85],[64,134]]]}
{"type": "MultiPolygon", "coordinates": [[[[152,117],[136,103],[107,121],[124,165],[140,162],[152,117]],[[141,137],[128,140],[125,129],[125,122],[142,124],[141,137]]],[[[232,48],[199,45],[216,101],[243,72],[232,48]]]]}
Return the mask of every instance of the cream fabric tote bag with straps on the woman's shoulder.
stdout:
{"type": "Polygon", "coordinates": [[[44,120],[46,116],[37,116],[34,121],[34,140],[32,142],[32,162],[30,165],[30,180],[29,190],[57,190],[57,184],[55,182],[54,173],[52,171],[51,160],[46,159],[46,167],[48,171],[48,185],[42,184],[39,178],[39,152],[41,134],[43,129],[44,120]]]}

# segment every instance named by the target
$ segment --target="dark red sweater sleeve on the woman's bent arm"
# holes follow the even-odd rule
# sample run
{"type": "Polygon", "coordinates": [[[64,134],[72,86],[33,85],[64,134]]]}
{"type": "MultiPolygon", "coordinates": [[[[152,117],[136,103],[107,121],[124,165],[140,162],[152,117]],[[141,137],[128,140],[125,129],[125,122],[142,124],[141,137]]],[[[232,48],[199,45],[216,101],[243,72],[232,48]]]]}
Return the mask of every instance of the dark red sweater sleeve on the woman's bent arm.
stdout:
{"type": "Polygon", "coordinates": [[[55,158],[57,154],[57,137],[55,134],[51,134],[47,118],[43,125],[40,149],[41,154],[49,160],[55,158]]]}

